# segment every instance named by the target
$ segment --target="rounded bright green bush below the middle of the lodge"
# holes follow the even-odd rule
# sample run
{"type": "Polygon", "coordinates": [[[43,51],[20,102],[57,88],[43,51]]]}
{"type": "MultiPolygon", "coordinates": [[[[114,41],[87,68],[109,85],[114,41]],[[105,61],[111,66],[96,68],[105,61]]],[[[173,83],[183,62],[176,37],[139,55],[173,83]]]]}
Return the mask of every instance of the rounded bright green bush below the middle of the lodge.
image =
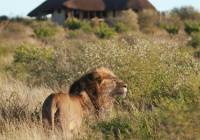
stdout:
{"type": "Polygon", "coordinates": [[[100,25],[96,28],[95,33],[99,38],[110,38],[114,35],[113,29],[106,23],[100,23],[100,25]]]}

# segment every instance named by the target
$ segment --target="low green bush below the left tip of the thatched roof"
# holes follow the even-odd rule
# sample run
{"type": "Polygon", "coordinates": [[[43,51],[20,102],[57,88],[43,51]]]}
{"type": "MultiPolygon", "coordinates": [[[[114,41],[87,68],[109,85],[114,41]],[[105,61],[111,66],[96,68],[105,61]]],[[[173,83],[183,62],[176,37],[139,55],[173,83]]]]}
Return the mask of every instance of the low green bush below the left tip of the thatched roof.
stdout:
{"type": "Polygon", "coordinates": [[[38,22],[33,25],[33,31],[38,38],[53,37],[58,29],[56,25],[51,22],[38,22]]]}

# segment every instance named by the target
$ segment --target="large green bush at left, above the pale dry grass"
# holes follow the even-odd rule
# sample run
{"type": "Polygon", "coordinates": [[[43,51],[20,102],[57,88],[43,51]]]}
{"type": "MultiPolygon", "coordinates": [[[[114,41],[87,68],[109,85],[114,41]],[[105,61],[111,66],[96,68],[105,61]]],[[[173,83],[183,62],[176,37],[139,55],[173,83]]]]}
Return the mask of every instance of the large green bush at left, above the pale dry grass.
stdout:
{"type": "Polygon", "coordinates": [[[52,49],[24,44],[15,51],[11,72],[15,77],[26,80],[29,84],[30,82],[33,85],[44,83],[50,76],[46,71],[52,63],[52,49]]]}

